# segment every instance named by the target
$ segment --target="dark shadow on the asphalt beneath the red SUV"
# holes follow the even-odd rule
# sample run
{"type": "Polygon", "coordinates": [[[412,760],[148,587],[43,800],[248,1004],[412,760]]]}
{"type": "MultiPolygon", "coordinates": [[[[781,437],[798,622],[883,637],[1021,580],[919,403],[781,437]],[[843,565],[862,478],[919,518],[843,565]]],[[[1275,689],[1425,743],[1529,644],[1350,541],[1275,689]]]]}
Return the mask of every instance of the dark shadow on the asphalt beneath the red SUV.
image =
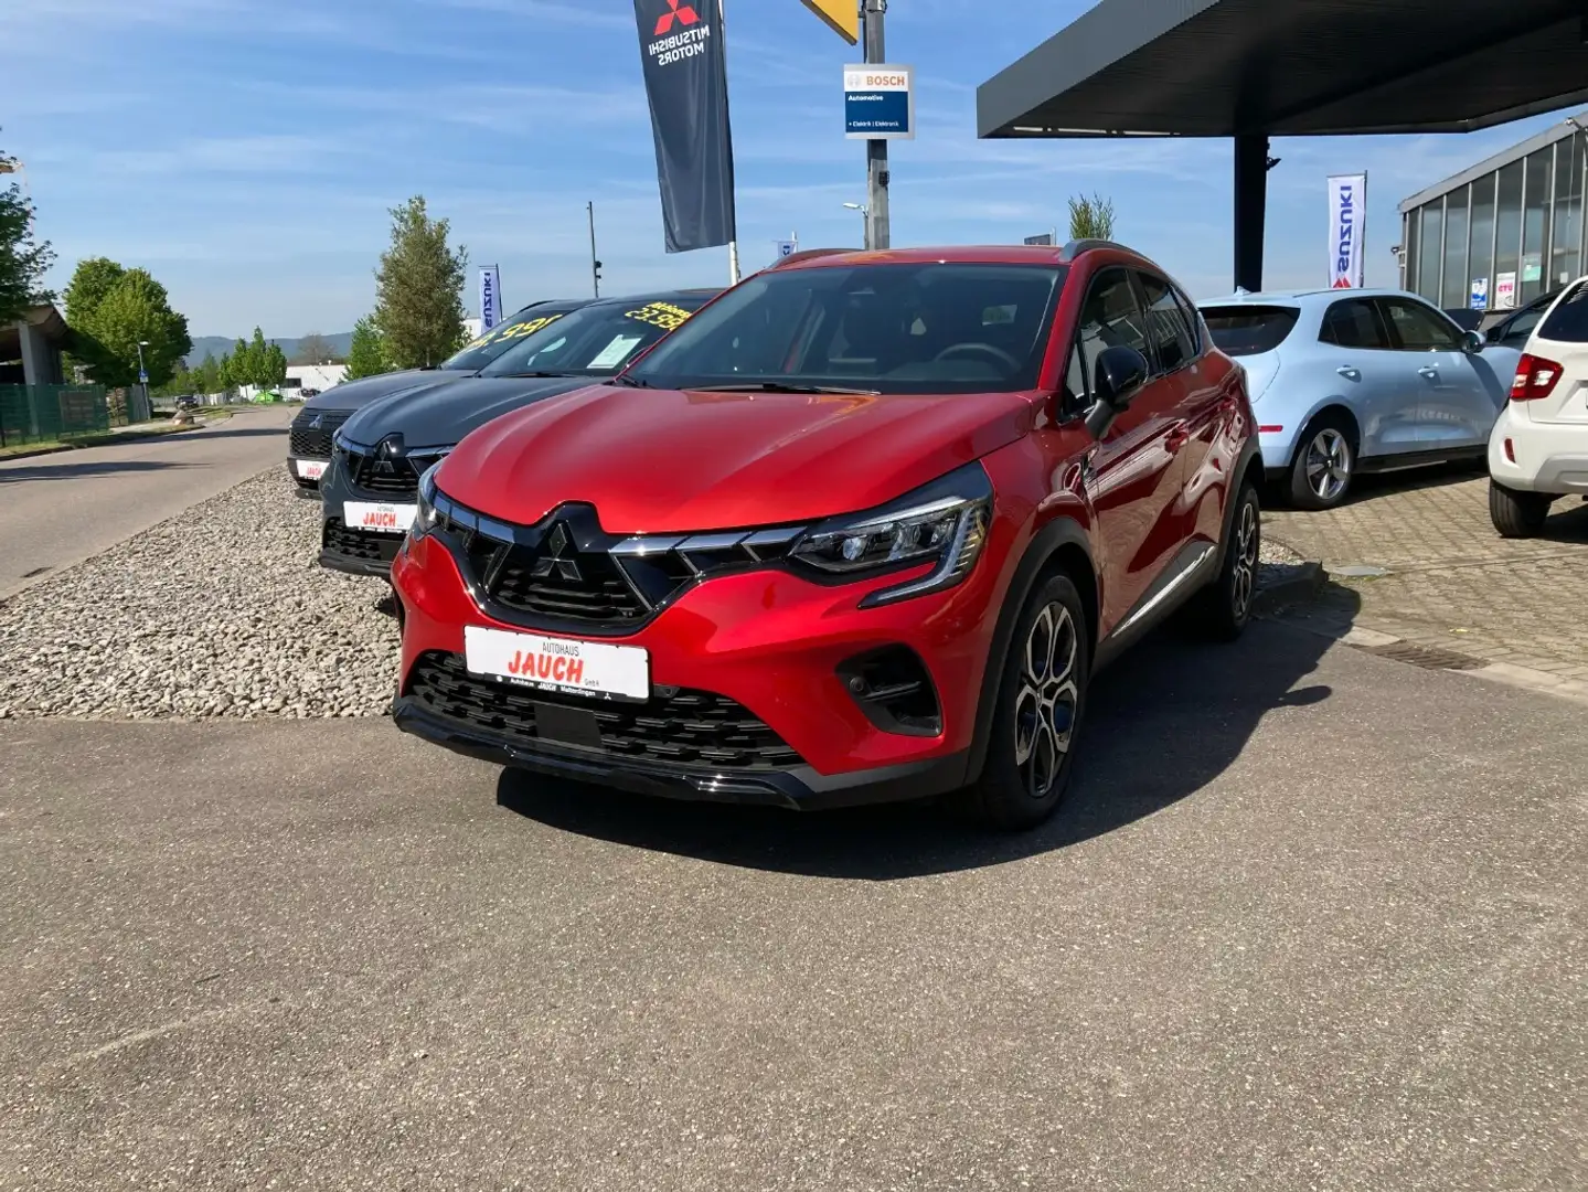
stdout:
{"type": "Polygon", "coordinates": [[[1002,865],[1115,832],[1196,795],[1275,708],[1320,703],[1307,676],[1331,641],[1259,622],[1234,646],[1164,632],[1097,678],[1067,806],[1027,833],[966,824],[940,803],[799,814],[686,803],[518,770],[497,803],[549,827],[723,865],[892,881],[1002,865]]]}

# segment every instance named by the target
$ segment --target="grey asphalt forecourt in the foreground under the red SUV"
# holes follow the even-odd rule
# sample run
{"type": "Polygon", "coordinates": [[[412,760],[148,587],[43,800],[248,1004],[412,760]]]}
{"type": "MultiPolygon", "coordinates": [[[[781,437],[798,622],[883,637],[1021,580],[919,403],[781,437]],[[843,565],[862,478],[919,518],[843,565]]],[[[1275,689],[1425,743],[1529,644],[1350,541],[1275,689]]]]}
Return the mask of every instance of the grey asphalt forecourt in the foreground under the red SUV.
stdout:
{"type": "Polygon", "coordinates": [[[0,756],[3,1187],[1588,1186],[1574,703],[1161,640],[1026,836],[381,722],[0,756]]]}

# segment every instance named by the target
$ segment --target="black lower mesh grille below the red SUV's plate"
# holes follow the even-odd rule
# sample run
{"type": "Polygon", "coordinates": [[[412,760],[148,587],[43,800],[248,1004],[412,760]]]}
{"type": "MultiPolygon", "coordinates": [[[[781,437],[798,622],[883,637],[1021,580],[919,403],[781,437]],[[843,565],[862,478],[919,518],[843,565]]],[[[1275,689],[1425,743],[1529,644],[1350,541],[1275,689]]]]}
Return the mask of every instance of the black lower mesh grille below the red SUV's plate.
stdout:
{"type": "Polygon", "coordinates": [[[549,706],[594,716],[600,729],[599,752],[608,757],[718,773],[802,763],[800,756],[743,705],[686,687],[657,687],[645,703],[597,702],[470,675],[461,656],[430,651],[413,663],[405,694],[441,719],[521,743],[591,748],[542,736],[537,706],[549,706]]]}

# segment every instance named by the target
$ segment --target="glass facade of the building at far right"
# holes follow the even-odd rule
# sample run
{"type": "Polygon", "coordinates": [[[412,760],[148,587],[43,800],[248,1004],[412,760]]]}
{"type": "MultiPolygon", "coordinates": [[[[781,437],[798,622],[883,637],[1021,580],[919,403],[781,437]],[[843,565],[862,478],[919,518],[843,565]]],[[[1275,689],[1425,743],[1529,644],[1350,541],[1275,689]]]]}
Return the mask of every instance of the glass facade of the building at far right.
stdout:
{"type": "MultiPolygon", "coordinates": [[[[1588,113],[1575,117],[1588,129],[1588,113]]],[[[1401,203],[1404,289],[1447,310],[1513,310],[1588,273],[1588,133],[1558,124],[1401,203]]]]}

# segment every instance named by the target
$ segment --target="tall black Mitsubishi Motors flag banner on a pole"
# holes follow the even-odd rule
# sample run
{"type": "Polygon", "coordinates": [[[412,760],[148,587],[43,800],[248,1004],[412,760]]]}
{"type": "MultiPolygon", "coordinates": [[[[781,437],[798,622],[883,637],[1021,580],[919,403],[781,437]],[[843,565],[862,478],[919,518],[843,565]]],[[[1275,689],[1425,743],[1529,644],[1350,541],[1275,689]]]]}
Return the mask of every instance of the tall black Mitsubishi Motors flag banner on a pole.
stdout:
{"type": "Polygon", "coordinates": [[[667,251],[735,240],[734,140],[719,0],[634,0],[667,251]]]}

